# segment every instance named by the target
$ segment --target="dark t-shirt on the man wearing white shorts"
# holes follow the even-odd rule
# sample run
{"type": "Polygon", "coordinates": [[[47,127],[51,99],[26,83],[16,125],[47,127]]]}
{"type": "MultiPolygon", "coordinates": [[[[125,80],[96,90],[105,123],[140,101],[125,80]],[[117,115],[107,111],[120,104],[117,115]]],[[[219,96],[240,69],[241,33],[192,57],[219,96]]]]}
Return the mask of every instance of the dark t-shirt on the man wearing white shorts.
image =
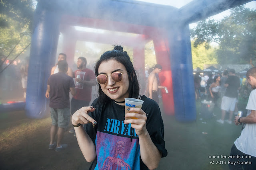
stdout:
{"type": "Polygon", "coordinates": [[[238,95],[237,90],[240,87],[240,78],[238,78],[238,76],[228,76],[225,84],[228,84],[228,87],[226,88],[224,96],[236,98],[238,95]]]}

